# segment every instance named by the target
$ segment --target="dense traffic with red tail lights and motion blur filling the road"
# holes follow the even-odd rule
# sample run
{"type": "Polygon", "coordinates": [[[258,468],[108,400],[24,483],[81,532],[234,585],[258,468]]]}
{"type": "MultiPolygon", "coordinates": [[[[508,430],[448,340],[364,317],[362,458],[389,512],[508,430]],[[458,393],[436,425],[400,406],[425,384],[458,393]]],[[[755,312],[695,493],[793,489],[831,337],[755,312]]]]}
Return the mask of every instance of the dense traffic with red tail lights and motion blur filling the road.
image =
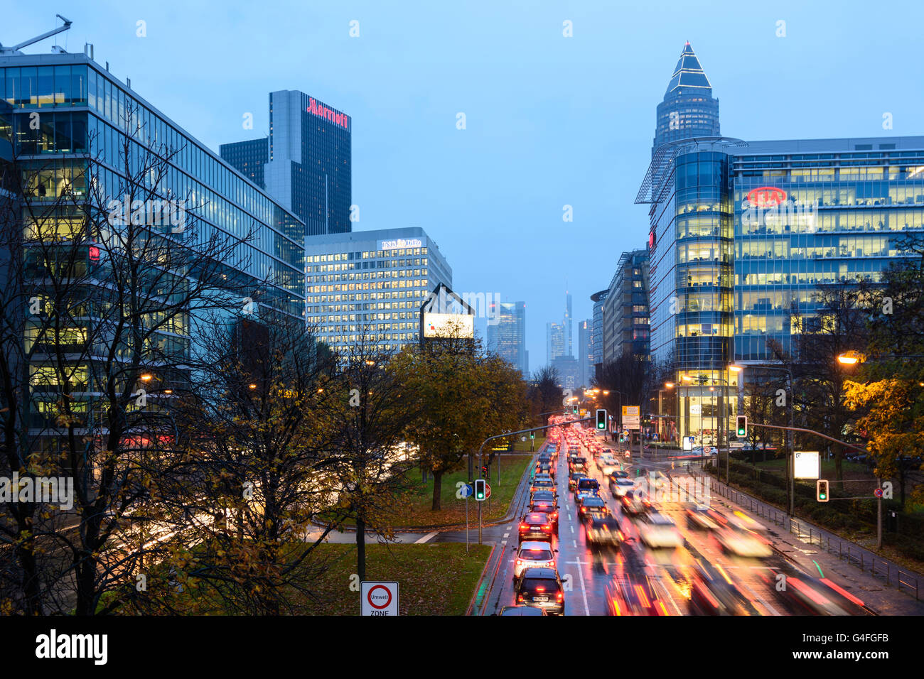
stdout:
{"type": "Polygon", "coordinates": [[[705,474],[638,458],[573,419],[553,418],[521,492],[493,614],[869,614],[774,551],[770,528],[716,502],[705,474]]]}

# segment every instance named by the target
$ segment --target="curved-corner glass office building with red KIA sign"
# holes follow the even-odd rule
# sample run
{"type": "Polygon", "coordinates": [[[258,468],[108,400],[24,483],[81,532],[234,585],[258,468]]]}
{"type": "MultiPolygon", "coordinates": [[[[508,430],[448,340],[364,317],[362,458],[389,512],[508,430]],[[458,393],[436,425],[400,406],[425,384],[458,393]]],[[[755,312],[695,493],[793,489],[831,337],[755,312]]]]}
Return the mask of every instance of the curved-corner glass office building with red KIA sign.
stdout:
{"type": "Polygon", "coordinates": [[[820,285],[876,282],[924,231],[924,137],[678,141],[650,204],[651,353],[675,370],[677,428],[718,440],[735,413],[729,363],[772,362],[818,311],[820,285]]]}

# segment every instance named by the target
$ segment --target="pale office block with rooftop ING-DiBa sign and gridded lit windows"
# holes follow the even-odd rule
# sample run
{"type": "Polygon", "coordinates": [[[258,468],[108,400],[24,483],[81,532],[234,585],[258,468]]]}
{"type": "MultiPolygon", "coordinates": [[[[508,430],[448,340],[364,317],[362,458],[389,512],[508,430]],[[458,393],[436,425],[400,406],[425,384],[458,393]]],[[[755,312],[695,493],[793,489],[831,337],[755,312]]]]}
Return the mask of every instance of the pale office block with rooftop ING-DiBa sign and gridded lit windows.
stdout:
{"type": "Polygon", "coordinates": [[[385,351],[419,342],[420,305],[453,272],[417,227],[305,238],[308,322],[328,346],[346,349],[365,332],[385,351]]]}

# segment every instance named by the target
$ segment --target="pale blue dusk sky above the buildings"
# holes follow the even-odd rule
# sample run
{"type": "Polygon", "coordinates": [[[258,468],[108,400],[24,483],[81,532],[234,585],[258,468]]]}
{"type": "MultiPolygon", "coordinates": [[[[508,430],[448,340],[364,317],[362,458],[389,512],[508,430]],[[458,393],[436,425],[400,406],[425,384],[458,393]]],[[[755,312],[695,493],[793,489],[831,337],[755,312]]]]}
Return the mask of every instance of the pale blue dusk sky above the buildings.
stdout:
{"type": "Polygon", "coordinates": [[[530,370],[545,363],[565,279],[577,342],[590,294],[609,285],[623,250],[644,247],[648,213],[633,201],[687,40],[726,136],[924,133],[915,0],[7,3],[0,42],[52,29],[55,12],[74,22],[59,44],[93,42],[98,62],[215,152],[267,133],[270,91],[346,111],[355,229],[422,226],[456,291],[526,301],[530,370]],[[563,37],[565,19],[574,37],[563,37]],[[242,129],[248,112],[253,130],[242,129]]]}

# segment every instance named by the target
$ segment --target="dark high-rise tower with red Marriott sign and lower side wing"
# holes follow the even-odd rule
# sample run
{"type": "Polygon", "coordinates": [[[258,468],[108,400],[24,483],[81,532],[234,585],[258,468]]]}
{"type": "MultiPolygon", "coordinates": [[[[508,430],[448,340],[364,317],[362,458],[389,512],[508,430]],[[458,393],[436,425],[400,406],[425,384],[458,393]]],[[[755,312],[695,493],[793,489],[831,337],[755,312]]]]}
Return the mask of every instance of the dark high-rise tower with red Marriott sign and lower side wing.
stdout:
{"type": "Polygon", "coordinates": [[[222,158],[295,212],[306,236],[352,230],[351,121],[305,92],[270,92],[270,136],[222,144],[222,158]],[[256,164],[264,157],[259,169],[256,164]]]}

